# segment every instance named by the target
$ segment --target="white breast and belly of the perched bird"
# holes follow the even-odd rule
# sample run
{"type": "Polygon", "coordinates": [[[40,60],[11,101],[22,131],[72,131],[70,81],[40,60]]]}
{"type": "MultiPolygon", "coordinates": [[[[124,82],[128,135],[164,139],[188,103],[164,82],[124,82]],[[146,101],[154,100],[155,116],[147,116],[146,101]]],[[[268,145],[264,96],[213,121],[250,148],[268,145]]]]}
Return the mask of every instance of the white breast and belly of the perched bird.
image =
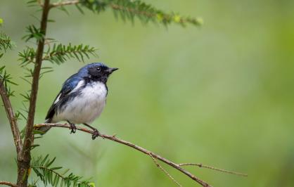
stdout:
{"type": "MultiPolygon", "coordinates": [[[[82,86],[84,81],[79,83],[82,86]]],[[[107,89],[102,82],[87,84],[79,96],[76,96],[68,105],[53,117],[53,122],[70,121],[74,124],[91,124],[106,105],[107,89]]]]}

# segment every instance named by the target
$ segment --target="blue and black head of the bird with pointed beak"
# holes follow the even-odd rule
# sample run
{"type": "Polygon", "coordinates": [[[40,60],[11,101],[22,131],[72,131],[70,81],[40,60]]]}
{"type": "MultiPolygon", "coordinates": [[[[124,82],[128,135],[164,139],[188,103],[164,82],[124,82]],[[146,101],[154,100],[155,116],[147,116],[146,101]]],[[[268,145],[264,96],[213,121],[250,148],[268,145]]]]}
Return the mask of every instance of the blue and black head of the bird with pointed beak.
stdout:
{"type": "Polygon", "coordinates": [[[82,74],[83,77],[106,83],[109,75],[115,70],[118,70],[118,68],[108,67],[103,63],[91,63],[82,67],[79,74],[82,74]]]}

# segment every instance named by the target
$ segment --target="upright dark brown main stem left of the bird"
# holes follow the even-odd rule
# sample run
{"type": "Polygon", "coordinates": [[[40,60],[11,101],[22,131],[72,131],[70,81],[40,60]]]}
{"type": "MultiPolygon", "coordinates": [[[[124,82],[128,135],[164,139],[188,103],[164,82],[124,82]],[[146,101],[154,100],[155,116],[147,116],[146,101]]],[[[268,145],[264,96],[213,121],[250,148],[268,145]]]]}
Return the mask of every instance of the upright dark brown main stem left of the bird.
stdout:
{"type": "Polygon", "coordinates": [[[18,160],[18,186],[27,186],[28,169],[30,168],[30,147],[33,142],[33,126],[34,126],[34,112],[36,110],[37,93],[39,87],[39,77],[41,71],[41,63],[44,52],[44,42],[46,36],[46,27],[48,22],[48,15],[50,11],[50,0],[45,0],[42,6],[43,12],[41,15],[40,32],[43,38],[39,39],[36,60],[34,62],[34,75],[32,77],[32,90],[30,94],[30,108],[27,115],[27,125],[25,130],[25,140],[23,142],[23,150],[20,159],[18,160]]]}

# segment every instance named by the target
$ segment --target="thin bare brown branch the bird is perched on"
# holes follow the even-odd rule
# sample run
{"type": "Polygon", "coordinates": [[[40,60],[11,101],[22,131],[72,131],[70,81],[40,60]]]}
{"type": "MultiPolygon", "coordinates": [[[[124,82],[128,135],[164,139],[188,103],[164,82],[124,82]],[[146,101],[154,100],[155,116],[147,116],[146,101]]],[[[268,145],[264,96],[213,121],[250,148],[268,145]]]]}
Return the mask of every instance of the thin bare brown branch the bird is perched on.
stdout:
{"type": "MultiPolygon", "coordinates": [[[[63,128],[70,129],[70,125],[69,124],[36,124],[36,125],[34,125],[34,128],[36,128],[36,129],[38,129],[39,127],[63,127],[63,128]]],[[[87,132],[89,134],[93,134],[93,131],[91,131],[89,129],[82,128],[82,127],[77,127],[77,130],[84,131],[84,132],[87,132]]],[[[196,181],[201,186],[210,187],[210,185],[207,182],[205,182],[205,181],[203,181],[201,179],[198,179],[197,176],[194,176],[190,172],[188,172],[185,169],[181,168],[180,165],[178,165],[178,164],[176,164],[176,163],[174,163],[174,162],[172,162],[170,160],[167,160],[165,157],[162,157],[160,155],[157,155],[157,154],[151,152],[150,150],[146,150],[145,148],[141,148],[140,146],[136,146],[134,143],[130,143],[128,141],[124,141],[124,140],[122,140],[120,138],[117,138],[116,136],[110,136],[110,135],[107,135],[107,134],[101,134],[100,136],[101,136],[101,138],[106,138],[106,139],[108,139],[110,141],[115,141],[117,143],[124,144],[125,146],[129,146],[131,148],[134,148],[136,150],[139,150],[141,153],[144,153],[146,155],[151,156],[152,158],[155,158],[157,160],[160,160],[162,162],[165,162],[167,165],[170,165],[171,167],[174,167],[175,169],[177,169],[180,172],[182,172],[183,174],[186,174],[186,176],[190,177],[191,179],[193,179],[193,181],[196,181]]]]}

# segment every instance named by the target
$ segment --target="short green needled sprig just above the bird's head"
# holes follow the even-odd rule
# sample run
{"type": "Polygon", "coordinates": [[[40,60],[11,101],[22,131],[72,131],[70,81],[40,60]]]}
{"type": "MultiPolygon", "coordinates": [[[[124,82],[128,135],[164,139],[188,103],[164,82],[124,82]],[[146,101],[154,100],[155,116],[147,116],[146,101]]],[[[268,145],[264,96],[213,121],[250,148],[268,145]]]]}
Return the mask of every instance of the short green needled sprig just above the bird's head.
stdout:
{"type": "Polygon", "coordinates": [[[89,45],[79,44],[77,46],[72,46],[68,44],[65,46],[63,44],[54,44],[53,48],[50,48],[45,52],[43,60],[48,60],[51,63],[64,63],[70,58],[76,58],[77,60],[84,62],[84,58],[90,58],[89,55],[97,56],[97,49],[89,45]]]}

